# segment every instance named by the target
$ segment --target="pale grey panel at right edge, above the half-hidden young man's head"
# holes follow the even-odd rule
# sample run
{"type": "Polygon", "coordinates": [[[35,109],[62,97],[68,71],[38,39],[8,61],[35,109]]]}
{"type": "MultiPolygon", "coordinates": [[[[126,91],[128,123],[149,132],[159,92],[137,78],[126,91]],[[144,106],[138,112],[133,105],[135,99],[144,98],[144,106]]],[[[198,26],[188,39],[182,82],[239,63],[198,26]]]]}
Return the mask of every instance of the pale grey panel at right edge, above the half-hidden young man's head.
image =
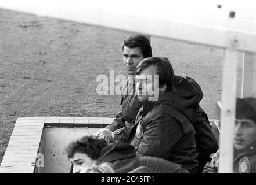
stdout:
{"type": "Polygon", "coordinates": [[[244,52],[241,97],[256,98],[256,55],[244,52]]]}

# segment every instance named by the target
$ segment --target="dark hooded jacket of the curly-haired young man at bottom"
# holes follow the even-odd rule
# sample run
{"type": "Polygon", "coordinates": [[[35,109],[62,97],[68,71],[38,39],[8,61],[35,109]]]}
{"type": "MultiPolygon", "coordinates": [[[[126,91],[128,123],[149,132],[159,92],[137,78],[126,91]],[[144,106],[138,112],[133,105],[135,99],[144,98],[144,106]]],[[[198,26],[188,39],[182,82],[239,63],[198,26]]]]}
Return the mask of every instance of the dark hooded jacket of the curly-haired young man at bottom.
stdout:
{"type": "Polygon", "coordinates": [[[135,157],[134,147],[118,140],[110,143],[100,151],[97,164],[102,164],[103,162],[113,164],[116,173],[128,173],[140,166],[146,166],[154,173],[188,173],[181,165],[162,158],[135,157]]]}

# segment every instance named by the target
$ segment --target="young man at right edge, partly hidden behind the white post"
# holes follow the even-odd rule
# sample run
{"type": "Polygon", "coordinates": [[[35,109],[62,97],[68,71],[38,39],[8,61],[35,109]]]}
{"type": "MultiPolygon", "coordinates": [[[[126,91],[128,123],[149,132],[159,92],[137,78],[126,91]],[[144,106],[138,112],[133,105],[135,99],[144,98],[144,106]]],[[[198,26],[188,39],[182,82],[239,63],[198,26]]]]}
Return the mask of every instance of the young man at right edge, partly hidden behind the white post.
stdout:
{"type": "MultiPolygon", "coordinates": [[[[236,99],[233,173],[256,173],[256,98],[236,99]]],[[[204,173],[217,173],[219,150],[204,173]]]]}

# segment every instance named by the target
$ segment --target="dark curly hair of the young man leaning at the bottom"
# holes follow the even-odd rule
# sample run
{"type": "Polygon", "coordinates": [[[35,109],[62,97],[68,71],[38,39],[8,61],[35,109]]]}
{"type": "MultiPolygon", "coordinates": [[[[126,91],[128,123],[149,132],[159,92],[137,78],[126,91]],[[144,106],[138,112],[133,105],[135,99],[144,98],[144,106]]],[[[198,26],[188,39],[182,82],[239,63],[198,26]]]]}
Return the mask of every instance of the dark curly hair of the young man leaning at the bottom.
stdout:
{"type": "Polygon", "coordinates": [[[105,146],[107,146],[106,140],[93,135],[86,135],[71,142],[65,151],[68,158],[72,158],[75,153],[82,153],[96,160],[99,157],[100,150],[105,146]]]}

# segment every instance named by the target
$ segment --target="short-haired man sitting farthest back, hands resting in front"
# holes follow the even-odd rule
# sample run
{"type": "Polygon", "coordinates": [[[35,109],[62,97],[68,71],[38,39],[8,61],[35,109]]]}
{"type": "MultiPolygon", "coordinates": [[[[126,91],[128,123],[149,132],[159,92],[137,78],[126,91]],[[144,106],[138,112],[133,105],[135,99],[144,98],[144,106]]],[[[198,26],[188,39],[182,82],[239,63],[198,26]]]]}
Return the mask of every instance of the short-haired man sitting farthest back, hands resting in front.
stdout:
{"type": "Polygon", "coordinates": [[[145,35],[132,35],[122,45],[123,61],[127,71],[127,86],[122,90],[122,111],[116,115],[113,123],[102,129],[98,134],[107,136],[110,142],[122,140],[127,142],[131,131],[132,120],[138,114],[142,103],[135,95],[135,68],[144,58],[152,57],[152,49],[145,35]],[[121,130],[118,130],[121,129],[121,130]],[[116,132],[114,132],[116,131],[116,132]]]}

